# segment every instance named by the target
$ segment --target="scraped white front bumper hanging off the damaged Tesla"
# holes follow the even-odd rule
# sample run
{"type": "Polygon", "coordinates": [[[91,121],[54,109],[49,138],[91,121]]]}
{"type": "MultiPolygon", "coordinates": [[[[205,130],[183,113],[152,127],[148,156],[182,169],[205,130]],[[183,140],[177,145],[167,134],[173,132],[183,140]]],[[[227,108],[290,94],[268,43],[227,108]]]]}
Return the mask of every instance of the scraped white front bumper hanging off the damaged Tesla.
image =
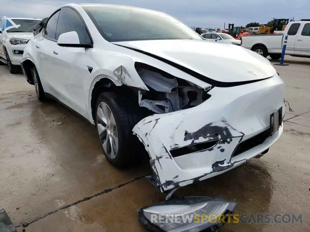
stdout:
{"type": "Polygon", "coordinates": [[[214,88],[202,104],[137,123],[133,133],[150,156],[150,181],[165,192],[219,175],[268,149],[281,135],[269,136],[270,115],[284,105],[285,84],[278,75],[230,88],[214,88]],[[257,141],[256,141],[257,140],[257,141]],[[211,147],[173,156],[173,150],[213,142],[211,147]]]}

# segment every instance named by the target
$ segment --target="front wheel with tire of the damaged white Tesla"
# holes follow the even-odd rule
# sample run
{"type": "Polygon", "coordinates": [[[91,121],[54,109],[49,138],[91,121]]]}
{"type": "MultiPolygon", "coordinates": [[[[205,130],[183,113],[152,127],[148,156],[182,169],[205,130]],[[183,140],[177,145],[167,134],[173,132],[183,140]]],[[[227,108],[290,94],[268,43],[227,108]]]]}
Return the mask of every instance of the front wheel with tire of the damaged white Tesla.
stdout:
{"type": "Polygon", "coordinates": [[[142,118],[137,101],[124,94],[107,91],[100,94],[96,103],[95,123],[100,144],[107,160],[116,167],[139,163],[142,144],[132,129],[142,118]]]}

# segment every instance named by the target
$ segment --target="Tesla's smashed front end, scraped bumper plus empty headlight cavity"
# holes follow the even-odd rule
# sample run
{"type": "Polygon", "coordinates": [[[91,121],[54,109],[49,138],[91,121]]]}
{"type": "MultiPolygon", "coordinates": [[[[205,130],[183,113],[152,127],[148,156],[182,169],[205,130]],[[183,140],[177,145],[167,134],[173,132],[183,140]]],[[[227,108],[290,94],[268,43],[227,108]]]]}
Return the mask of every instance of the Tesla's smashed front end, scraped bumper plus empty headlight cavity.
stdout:
{"type": "Polygon", "coordinates": [[[224,88],[201,87],[139,62],[135,68],[149,90],[138,90],[139,105],[154,114],[133,133],[150,156],[148,179],[160,192],[231,170],[264,153],[283,131],[285,85],[277,74],[224,88]],[[282,108],[270,133],[270,115],[282,108]]]}

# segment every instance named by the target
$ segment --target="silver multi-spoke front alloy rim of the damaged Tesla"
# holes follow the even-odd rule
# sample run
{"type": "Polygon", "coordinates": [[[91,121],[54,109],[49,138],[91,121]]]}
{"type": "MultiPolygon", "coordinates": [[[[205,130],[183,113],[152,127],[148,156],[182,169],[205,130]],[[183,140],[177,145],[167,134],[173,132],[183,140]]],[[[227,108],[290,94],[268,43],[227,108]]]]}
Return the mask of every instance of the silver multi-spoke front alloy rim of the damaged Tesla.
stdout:
{"type": "Polygon", "coordinates": [[[104,152],[110,159],[115,159],[118,150],[117,127],[113,113],[105,102],[100,102],[97,108],[97,129],[104,152]]]}

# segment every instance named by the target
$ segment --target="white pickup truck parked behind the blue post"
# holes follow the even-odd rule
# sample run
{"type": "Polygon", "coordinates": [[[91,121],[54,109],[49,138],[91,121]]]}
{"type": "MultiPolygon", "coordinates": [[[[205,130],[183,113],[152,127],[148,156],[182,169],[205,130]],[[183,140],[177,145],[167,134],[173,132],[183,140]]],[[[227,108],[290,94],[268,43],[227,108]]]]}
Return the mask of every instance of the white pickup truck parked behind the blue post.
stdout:
{"type": "Polygon", "coordinates": [[[283,34],[243,36],[241,46],[272,59],[280,59],[285,36],[285,54],[310,58],[310,21],[289,22],[283,34]]]}

